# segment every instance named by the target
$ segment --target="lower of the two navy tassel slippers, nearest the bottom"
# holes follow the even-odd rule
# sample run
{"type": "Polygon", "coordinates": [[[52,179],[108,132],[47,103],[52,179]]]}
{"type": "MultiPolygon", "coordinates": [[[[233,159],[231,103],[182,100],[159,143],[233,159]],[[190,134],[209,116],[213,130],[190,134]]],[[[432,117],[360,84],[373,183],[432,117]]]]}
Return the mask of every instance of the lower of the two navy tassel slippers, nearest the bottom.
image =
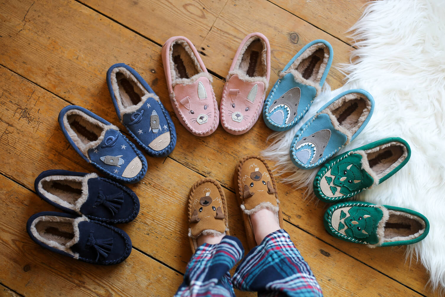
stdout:
{"type": "Polygon", "coordinates": [[[127,233],[86,216],[39,212],[29,218],[26,230],[36,244],[93,264],[121,263],[131,253],[127,233]]]}

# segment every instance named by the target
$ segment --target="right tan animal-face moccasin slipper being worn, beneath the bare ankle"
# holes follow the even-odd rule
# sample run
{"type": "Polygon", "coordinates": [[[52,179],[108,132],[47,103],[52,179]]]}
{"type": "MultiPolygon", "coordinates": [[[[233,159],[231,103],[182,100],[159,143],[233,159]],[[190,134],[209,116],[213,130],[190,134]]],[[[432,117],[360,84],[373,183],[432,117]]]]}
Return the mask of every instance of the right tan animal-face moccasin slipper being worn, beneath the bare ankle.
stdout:
{"type": "Polygon", "coordinates": [[[279,210],[277,187],[272,171],[258,156],[247,156],[239,161],[235,170],[236,197],[243,212],[249,249],[257,246],[250,215],[266,208],[275,212],[280,228],[283,228],[283,215],[279,210]]]}

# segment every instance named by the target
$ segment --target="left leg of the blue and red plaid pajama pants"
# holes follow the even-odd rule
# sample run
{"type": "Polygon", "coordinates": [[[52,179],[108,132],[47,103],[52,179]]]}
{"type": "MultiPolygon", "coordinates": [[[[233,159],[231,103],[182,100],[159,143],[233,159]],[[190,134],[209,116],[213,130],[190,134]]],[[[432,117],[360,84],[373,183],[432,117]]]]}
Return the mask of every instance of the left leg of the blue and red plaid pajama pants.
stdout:
{"type": "Polygon", "coordinates": [[[202,244],[175,296],[235,296],[229,271],[243,254],[243,245],[233,236],[224,236],[219,244],[202,244]]]}

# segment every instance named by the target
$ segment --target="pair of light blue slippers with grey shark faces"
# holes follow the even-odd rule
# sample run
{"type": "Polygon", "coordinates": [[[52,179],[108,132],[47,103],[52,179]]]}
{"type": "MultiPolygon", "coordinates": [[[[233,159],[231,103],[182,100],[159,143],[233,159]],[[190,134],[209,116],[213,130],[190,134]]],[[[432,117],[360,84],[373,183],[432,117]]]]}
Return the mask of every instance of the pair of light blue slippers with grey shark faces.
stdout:
{"type": "MultiPolygon", "coordinates": [[[[269,128],[289,130],[303,118],[321,92],[332,58],[328,41],[315,40],[287,63],[264,103],[269,128]]],[[[360,134],[373,110],[374,99],[364,90],[339,94],[297,131],[290,147],[292,162],[302,169],[320,166],[360,134]]]]}

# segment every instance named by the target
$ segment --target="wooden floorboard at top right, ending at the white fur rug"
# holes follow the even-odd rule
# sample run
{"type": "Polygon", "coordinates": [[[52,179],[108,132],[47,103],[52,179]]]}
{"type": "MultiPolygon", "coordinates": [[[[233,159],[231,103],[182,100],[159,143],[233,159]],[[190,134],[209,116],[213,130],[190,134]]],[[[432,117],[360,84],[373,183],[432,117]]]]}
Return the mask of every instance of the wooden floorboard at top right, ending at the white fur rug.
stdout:
{"type": "Polygon", "coordinates": [[[367,0],[271,0],[336,38],[350,43],[347,31],[359,20],[367,0]]]}

